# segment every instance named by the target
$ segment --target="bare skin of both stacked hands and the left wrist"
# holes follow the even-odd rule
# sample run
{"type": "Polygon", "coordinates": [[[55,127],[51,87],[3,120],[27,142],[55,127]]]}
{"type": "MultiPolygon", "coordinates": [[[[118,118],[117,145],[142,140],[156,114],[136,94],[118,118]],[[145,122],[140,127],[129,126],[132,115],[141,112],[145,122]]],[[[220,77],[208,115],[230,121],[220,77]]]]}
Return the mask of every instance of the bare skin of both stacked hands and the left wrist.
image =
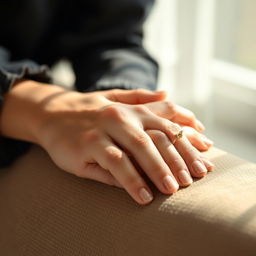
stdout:
{"type": "Polygon", "coordinates": [[[0,131],[40,145],[67,172],[124,188],[144,205],[153,197],[143,175],[172,194],[213,168],[198,151],[212,145],[203,125],[165,98],[165,92],[79,93],[22,80],[5,95],[0,131]],[[187,136],[176,140],[181,126],[187,136]]]}

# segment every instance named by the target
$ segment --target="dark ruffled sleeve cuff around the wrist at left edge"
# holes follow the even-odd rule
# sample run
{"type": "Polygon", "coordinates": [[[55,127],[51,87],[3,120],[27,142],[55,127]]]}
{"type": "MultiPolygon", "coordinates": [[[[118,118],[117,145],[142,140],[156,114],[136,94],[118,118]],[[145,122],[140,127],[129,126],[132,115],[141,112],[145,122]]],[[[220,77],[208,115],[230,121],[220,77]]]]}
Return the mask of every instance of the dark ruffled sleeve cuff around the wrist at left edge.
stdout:
{"type": "MultiPolygon", "coordinates": [[[[30,60],[11,61],[9,52],[0,46],[0,106],[4,104],[4,94],[18,79],[31,79],[50,82],[48,68],[30,60]]],[[[25,153],[29,142],[0,136],[0,168],[11,164],[19,155],[25,153]]]]}

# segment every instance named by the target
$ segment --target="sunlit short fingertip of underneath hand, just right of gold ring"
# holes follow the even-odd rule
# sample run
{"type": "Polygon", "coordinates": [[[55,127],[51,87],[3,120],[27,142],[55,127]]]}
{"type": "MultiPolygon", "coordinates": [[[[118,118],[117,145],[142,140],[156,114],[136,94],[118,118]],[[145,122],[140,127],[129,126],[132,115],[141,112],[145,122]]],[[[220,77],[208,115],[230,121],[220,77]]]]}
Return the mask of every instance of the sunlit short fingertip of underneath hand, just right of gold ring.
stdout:
{"type": "Polygon", "coordinates": [[[213,145],[213,142],[211,140],[206,138],[205,135],[197,132],[194,128],[184,126],[182,127],[182,129],[190,143],[198,150],[206,151],[213,145]]]}

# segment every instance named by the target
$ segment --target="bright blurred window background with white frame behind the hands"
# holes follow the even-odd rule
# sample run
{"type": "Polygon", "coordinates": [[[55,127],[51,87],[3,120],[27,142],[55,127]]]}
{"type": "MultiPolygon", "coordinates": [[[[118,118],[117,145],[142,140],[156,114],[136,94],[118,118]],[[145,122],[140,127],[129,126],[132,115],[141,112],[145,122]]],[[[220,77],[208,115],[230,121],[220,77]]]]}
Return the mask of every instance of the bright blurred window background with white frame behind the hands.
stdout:
{"type": "MultiPolygon", "coordinates": [[[[159,89],[191,109],[215,146],[256,162],[256,1],[156,0],[145,47],[160,64],[159,89]]],[[[70,65],[53,68],[72,84],[70,65]]]]}

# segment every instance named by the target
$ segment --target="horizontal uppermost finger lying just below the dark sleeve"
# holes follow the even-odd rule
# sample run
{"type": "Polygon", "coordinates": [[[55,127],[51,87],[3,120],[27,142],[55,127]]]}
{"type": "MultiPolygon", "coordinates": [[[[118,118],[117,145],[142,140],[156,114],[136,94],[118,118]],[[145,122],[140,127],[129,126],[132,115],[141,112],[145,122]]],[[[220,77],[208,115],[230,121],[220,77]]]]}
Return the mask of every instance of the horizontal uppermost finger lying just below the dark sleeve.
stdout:
{"type": "Polygon", "coordinates": [[[144,104],[147,102],[161,101],[167,97],[165,91],[150,91],[145,89],[106,91],[106,97],[115,102],[126,104],[144,104]]]}

